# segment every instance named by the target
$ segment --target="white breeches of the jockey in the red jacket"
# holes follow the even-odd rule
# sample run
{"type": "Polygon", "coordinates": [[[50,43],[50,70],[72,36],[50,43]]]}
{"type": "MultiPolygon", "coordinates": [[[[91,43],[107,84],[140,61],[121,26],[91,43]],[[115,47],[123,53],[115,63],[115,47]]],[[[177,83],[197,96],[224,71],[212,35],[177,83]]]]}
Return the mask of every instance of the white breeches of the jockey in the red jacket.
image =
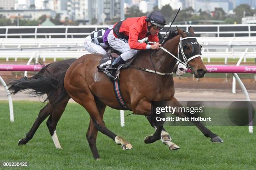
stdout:
{"type": "Polygon", "coordinates": [[[138,52],[138,50],[133,50],[130,48],[128,40],[125,38],[115,37],[113,30],[111,30],[108,34],[108,43],[115,50],[122,52],[120,56],[124,61],[131,59],[138,52]]]}

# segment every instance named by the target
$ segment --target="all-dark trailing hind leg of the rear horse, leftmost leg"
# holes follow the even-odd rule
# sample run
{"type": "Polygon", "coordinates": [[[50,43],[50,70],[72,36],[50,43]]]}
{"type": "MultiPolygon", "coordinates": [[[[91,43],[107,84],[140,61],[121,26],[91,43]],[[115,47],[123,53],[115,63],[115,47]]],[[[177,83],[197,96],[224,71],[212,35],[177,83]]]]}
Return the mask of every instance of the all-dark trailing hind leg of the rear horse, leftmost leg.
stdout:
{"type": "Polygon", "coordinates": [[[32,128],[29,130],[29,132],[26,134],[25,138],[22,138],[19,140],[18,145],[25,145],[28,143],[29,140],[31,140],[36,133],[36,130],[41,125],[41,123],[48,117],[51,113],[51,105],[48,103],[44,108],[42,108],[38,114],[38,117],[36,118],[32,128]]]}

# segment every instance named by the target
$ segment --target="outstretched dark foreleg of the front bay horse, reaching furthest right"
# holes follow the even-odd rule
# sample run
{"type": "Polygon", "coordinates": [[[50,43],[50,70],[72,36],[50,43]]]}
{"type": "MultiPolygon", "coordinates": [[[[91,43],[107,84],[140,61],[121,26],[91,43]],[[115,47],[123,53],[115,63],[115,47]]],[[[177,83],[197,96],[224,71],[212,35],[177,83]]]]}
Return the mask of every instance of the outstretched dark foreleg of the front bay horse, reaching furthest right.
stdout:
{"type": "MultiPolygon", "coordinates": [[[[174,106],[183,107],[179,101],[173,97],[172,102],[174,103],[174,106]]],[[[179,117],[190,117],[189,113],[183,113],[183,112],[174,112],[174,115],[177,115],[179,117]]],[[[211,141],[213,143],[221,143],[223,140],[216,135],[215,133],[212,133],[208,128],[205,127],[200,121],[191,121],[207,138],[211,138],[211,141]]]]}

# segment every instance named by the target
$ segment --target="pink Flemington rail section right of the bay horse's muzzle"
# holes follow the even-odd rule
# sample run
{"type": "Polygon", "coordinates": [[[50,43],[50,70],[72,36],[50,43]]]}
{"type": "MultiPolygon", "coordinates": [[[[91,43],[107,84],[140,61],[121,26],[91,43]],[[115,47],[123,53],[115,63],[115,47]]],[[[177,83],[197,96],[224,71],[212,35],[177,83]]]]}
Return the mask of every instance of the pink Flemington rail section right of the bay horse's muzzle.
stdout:
{"type": "Polygon", "coordinates": [[[205,65],[205,67],[207,72],[212,73],[256,73],[256,65],[205,65]]]}

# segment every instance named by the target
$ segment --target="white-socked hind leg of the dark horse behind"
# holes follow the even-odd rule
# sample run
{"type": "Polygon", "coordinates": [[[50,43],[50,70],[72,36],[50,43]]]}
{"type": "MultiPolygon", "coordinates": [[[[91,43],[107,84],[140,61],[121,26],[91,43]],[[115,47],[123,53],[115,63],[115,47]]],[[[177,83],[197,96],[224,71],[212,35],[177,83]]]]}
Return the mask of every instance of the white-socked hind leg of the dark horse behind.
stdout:
{"type": "MultiPolygon", "coordinates": [[[[52,108],[52,112],[51,115],[49,116],[46,125],[49,129],[49,132],[51,134],[51,138],[54,142],[54,145],[57,149],[61,149],[61,145],[59,143],[59,139],[57,137],[57,133],[56,133],[56,126],[57,123],[62,115],[62,113],[64,112],[67,103],[69,102],[70,97],[67,96],[64,98],[64,100],[61,100],[61,102],[56,103],[54,105],[54,108],[52,108]]],[[[50,102],[54,102],[53,100],[51,100],[50,102]]]]}

